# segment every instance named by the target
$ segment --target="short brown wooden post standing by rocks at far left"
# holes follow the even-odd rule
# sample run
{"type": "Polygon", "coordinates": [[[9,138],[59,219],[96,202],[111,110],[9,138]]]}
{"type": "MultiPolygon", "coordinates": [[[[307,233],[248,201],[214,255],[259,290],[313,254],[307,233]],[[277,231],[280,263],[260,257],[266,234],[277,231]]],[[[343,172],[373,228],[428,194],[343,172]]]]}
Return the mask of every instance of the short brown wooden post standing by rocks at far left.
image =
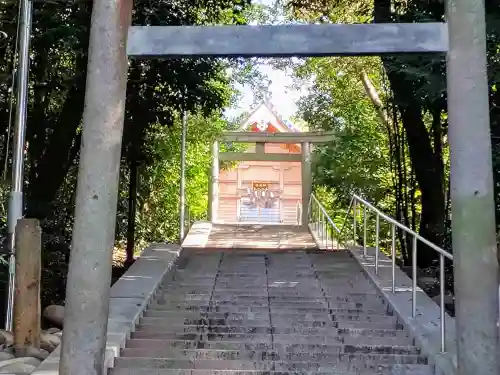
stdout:
{"type": "Polygon", "coordinates": [[[42,231],[37,219],[20,219],[16,226],[14,348],[40,348],[40,278],[42,231]]]}

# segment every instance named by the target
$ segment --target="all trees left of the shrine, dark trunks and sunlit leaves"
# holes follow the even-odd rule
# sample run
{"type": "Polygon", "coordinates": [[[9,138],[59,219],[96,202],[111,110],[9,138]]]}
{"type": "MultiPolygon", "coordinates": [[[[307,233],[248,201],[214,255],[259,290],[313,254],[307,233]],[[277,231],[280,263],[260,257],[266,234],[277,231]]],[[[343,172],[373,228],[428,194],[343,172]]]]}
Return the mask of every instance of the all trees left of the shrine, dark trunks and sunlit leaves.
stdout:
{"type": "MultiPolygon", "coordinates": [[[[0,40],[0,162],[3,166],[11,161],[8,146],[12,144],[7,143],[9,87],[18,2],[0,3],[0,24],[7,35],[0,40]]],[[[25,198],[26,215],[39,218],[44,232],[44,304],[64,300],[92,4],[92,1],[34,2],[25,198]]],[[[133,23],[240,24],[246,22],[248,5],[249,0],[136,0],[133,23]]],[[[236,70],[241,65],[238,61],[216,59],[130,62],[117,215],[120,246],[128,221],[132,165],[139,166],[141,176],[137,213],[139,240],[176,239],[177,118],[182,110],[193,113],[190,125],[195,137],[189,141],[188,194],[192,211],[200,217],[203,215],[206,206],[203,194],[207,186],[204,168],[210,134],[225,126],[216,119],[235,93],[230,86],[231,77],[226,74],[230,64],[236,70]],[[145,213],[145,207],[150,216],[145,213]]],[[[10,171],[5,172],[10,176],[10,171]]],[[[2,185],[2,197],[9,185],[8,180],[2,185]]],[[[5,210],[1,214],[4,223],[5,210]]],[[[5,233],[5,226],[0,229],[5,233]]]]}

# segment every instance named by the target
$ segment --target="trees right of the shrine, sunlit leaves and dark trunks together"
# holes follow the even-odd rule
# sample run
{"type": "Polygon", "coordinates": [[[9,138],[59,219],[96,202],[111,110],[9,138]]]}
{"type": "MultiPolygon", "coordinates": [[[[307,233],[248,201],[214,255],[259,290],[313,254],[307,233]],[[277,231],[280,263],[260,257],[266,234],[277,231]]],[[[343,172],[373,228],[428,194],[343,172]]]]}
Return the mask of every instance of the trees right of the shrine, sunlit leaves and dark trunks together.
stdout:
{"type": "MultiPolygon", "coordinates": [[[[440,22],[445,16],[439,1],[299,0],[281,6],[289,20],[300,22],[440,22]]],[[[498,222],[500,3],[486,1],[486,13],[498,222]]],[[[451,251],[445,56],[310,58],[291,68],[301,84],[312,82],[300,102],[302,118],[311,129],[338,134],[337,142],[317,150],[317,191],[332,211],[345,209],[357,192],[451,251]]],[[[401,231],[398,238],[401,261],[409,264],[410,239],[401,231]]],[[[423,244],[418,254],[424,268],[437,260],[423,244]]]]}

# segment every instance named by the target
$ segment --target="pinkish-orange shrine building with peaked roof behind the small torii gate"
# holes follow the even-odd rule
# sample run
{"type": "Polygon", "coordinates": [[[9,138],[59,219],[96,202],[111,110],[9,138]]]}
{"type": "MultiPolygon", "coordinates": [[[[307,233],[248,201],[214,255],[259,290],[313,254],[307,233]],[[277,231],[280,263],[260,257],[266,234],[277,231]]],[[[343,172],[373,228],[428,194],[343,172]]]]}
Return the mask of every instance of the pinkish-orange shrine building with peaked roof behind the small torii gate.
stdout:
{"type": "MultiPolygon", "coordinates": [[[[239,131],[264,134],[300,132],[292,124],[281,120],[266,101],[250,113],[239,131]]],[[[301,148],[300,143],[248,144],[247,153],[296,157],[283,157],[283,160],[276,157],[275,161],[238,161],[230,169],[220,169],[216,221],[225,224],[300,224],[301,148]]]]}

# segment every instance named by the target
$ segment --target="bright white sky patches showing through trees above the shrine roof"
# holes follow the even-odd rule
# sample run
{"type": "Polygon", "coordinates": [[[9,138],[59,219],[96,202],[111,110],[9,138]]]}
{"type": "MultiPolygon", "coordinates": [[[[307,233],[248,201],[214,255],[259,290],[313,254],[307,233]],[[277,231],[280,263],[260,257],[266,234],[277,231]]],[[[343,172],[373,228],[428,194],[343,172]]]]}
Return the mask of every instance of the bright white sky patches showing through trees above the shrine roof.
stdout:
{"type": "MultiPolygon", "coordinates": [[[[258,0],[257,3],[264,5],[273,5],[274,0],[258,0]]],[[[270,65],[264,65],[259,70],[266,74],[271,80],[269,91],[271,92],[271,103],[274,105],[278,114],[285,120],[288,120],[297,111],[297,101],[305,90],[295,90],[292,86],[293,79],[286,72],[274,69],[270,65]]],[[[241,90],[243,97],[238,103],[226,111],[229,118],[238,116],[244,111],[248,111],[253,103],[253,93],[249,86],[237,86],[241,90]]]]}

